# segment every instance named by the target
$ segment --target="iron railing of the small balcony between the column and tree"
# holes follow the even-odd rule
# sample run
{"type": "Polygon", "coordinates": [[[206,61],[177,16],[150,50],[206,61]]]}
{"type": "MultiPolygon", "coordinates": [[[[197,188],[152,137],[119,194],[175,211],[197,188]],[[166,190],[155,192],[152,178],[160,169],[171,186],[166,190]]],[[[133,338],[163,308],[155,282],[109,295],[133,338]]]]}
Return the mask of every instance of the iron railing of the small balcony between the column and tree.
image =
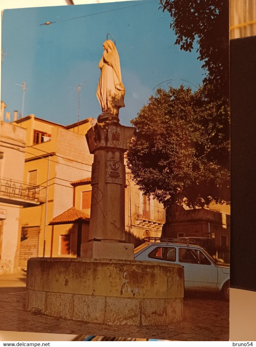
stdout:
{"type": "Polygon", "coordinates": [[[135,205],[135,218],[157,223],[165,223],[165,209],[147,204],[135,205]]]}

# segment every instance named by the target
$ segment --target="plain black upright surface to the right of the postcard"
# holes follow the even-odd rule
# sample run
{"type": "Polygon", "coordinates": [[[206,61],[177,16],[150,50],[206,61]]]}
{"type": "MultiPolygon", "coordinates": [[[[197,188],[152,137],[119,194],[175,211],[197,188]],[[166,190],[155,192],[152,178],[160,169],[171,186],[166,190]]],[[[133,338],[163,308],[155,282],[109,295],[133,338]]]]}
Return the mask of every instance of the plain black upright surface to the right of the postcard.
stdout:
{"type": "Polygon", "coordinates": [[[230,287],[256,291],[256,36],[230,41],[230,287]]]}

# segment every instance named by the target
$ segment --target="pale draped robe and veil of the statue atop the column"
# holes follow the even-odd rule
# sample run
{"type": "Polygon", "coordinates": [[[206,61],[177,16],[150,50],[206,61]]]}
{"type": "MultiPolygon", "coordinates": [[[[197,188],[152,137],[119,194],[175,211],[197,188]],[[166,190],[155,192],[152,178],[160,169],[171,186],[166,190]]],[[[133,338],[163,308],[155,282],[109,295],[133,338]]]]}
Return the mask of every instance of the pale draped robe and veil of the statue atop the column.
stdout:
{"type": "Polygon", "coordinates": [[[97,88],[97,98],[101,105],[102,112],[113,108],[124,107],[125,88],[121,79],[121,68],[117,50],[112,41],[107,40],[112,51],[105,50],[99,62],[101,75],[97,88]]]}

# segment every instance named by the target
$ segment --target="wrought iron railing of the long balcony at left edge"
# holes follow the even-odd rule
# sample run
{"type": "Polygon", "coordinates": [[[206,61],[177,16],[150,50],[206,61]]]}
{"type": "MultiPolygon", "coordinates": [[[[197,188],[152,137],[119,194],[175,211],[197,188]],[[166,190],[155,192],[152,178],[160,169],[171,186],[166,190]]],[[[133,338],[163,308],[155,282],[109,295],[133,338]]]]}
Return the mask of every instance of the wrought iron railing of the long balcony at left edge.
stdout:
{"type": "Polygon", "coordinates": [[[0,177],[0,195],[17,199],[46,202],[46,187],[0,177]]]}

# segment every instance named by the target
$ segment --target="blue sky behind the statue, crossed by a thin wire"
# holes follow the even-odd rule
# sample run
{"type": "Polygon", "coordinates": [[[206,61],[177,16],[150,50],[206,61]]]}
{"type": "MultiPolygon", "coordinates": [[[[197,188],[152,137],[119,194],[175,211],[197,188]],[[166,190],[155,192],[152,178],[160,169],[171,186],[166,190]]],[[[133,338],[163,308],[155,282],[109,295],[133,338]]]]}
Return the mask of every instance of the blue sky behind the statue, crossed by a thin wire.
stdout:
{"type": "Polygon", "coordinates": [[[76,122],[81,84],[80,120],[97,118],[98,63],[108,33],[116,41],[126,89],[121,124],[130,125],[157,85],[195,90],[205,73],[198,53],[174,45],[170,16],[158,8],[159,1],[150,0],[5,10],[2,48],[8,55],[3,55],[1,100],[11,120],[14,110],[22,109],[23,91],[16,84],[23,81],[24,116],[76,122]],[[46,22],[56,23],[41,25],[46,22]]]}

